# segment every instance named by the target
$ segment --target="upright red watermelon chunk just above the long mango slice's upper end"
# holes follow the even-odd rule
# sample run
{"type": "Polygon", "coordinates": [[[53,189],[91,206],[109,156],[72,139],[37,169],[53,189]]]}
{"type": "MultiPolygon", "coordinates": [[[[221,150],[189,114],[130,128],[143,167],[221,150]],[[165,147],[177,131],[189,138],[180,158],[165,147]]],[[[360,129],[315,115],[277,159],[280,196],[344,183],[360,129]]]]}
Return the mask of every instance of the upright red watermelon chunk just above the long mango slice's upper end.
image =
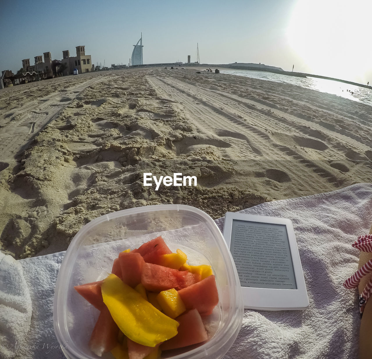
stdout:
{"type": "MultiPolygon", "coordinates": [[[[145,261],[140,253],[122,252],[119,254],[121,279],[132,288],[141,283],[142,266],[145,261]]],[[[115,273],[114,273],[115,274],[115,273]]]]}

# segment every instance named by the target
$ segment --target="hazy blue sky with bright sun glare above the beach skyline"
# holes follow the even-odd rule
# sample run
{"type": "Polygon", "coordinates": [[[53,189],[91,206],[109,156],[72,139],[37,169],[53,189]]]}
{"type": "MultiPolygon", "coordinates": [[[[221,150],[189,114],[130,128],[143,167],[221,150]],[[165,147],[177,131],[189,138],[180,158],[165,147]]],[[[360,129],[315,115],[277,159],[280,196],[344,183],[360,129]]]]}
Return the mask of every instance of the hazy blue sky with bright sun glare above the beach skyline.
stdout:
{"type": "Polygon", "coordinates": [[[49,1],[0,0],[0,70],[50,51],[128,64],[141,37],[143,61],[254,62],[372,83],[371,0],[49,1]]]}

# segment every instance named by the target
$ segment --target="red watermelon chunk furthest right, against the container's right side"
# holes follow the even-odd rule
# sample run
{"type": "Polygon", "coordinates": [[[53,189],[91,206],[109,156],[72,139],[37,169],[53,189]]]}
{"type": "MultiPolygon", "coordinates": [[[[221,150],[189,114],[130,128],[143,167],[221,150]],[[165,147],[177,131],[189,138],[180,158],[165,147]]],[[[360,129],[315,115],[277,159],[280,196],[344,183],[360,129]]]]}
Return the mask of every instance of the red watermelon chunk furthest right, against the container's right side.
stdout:
{"type": "Polygon", "coordinates": [[[218,291],[214,275],[178,291],[186,309],[197,309],[200,315],[209,315],[218,304],[218,291]]]}

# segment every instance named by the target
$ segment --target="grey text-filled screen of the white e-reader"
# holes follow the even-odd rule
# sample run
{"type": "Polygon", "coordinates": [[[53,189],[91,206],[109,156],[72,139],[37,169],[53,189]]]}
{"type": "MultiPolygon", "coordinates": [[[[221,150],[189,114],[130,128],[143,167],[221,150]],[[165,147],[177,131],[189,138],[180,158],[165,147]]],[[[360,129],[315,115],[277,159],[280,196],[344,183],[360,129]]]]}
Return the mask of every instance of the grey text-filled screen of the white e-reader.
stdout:
{"type": "Polygon", "coordinates": [[[230,251],[242,287],[297,289],[286,225],[233,219],[230,251]]]}

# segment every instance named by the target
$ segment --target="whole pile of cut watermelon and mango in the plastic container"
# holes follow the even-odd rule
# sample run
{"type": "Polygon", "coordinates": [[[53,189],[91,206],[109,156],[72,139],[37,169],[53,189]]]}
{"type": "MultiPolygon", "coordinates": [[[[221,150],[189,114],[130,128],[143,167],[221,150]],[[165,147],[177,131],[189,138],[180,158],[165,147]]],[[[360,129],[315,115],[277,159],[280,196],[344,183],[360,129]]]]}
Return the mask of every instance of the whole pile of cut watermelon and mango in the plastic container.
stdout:
{"type": "Polygon", "coordinates": [[[100,311],[89,340],[97,356],[158,359],[162,351],[208,340],[203,318],[218,304],[211,266],[187,264],[162,237],[126,249],[102,281],[74,287],[100,311]]]}

